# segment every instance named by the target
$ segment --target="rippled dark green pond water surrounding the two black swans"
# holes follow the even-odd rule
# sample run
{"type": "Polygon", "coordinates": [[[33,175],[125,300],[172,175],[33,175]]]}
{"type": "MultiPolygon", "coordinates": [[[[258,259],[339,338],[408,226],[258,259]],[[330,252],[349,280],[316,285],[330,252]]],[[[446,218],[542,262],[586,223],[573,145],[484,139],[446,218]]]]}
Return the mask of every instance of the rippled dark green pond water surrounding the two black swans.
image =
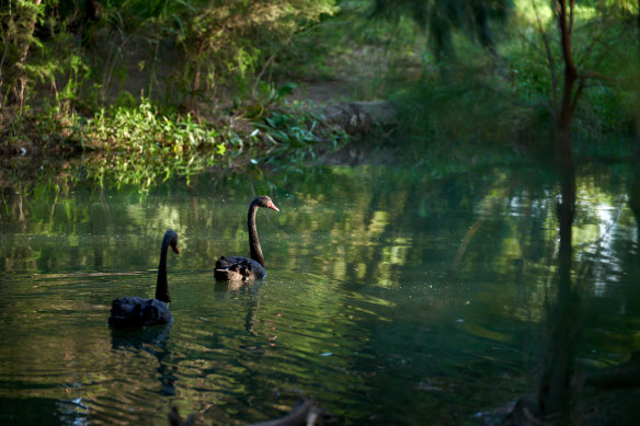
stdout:
{"type": "MultiPolygon", "coordinates": [[[[584,315],[576,371],[640,349],[631,169],[583,168],[573,245],[584,315]]],[[[302,395],[342,424],[482,424],[535,392],[557,272],[558,187],[540,170],[435,179],[319,168],[201,175],[150,193],[4,191],[0,423],[165,425],[279,417],[302,395]],[[253,176],[253,177],[251,177],[253,176]],[[217,284],[248,255],[254,194],[268,276],[217,284]],[[107,325],[112,299],[152,297],[160,242],[174,323],[107,325]]]]}

